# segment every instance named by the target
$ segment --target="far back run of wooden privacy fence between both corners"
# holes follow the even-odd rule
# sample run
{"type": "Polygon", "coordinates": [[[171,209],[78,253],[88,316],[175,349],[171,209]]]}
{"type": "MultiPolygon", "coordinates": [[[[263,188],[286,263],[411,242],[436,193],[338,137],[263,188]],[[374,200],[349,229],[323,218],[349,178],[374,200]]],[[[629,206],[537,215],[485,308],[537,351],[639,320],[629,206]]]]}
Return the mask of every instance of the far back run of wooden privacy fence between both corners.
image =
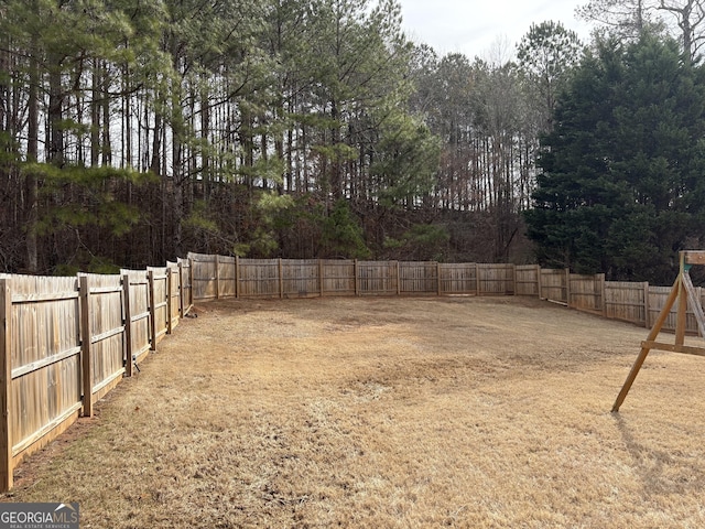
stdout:
{"type": "MultiPolygon", "coordinates": [[[[322,295],[513,294],[513,264],[239,259],[188,253],[194,300],[322,295]]],[[[525,267],[538,270],[536,267],[525,267]]],[[[524,289],[527,294],[530,288],[524,289]]]]}

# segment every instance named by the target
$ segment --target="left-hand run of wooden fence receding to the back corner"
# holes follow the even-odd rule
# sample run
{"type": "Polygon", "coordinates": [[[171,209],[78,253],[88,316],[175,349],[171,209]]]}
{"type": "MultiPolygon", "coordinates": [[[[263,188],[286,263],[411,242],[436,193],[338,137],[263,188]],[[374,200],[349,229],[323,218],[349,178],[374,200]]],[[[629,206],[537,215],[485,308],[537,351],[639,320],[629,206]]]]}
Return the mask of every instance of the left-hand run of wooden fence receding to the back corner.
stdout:
{"type": "Polygon", "coordinates": [[[115,388],[193,305],[191,263],[75,278],[0,274],[0,489],[115,388]]]}

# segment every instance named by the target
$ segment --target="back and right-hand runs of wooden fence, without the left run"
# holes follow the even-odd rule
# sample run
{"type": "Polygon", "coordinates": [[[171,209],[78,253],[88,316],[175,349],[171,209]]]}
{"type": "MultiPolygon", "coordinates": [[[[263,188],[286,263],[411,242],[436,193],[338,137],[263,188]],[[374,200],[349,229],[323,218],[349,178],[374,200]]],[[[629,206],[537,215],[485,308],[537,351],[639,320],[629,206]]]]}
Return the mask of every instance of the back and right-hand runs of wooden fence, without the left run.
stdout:
{"type": "MultiPolygon", "coordinates": [[[[194,300],[324,295],[531,295],[651,327],[670,292],[538,264],[239,259],[188,253],[194,300]]],[[[696,289],[703,299],[702,289],[696,289]]],[[[675,310],[663,326],[675,330],[675,310]]],[[[687,332],[697,324],[688,307],[687,332]]]]}

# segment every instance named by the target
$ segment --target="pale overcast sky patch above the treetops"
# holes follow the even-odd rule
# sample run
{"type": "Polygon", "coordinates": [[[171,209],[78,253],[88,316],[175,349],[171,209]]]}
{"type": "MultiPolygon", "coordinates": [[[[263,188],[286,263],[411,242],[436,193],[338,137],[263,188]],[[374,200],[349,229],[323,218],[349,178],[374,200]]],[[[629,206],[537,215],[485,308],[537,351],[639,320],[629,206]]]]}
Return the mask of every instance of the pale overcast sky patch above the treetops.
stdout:
{"type": "MultiPolygon", "coordinates": [[[[496,57],[498,42],[513,55],[532,22],[562,22],[584,41],[589,29],[574,11],[587,0],[400,0],[403,28],[417,43],[430,44],[440,55],[460,52],[473,60],[496,57]]],[[[509,58],[509,57],[506,57],[509,58]]]]}

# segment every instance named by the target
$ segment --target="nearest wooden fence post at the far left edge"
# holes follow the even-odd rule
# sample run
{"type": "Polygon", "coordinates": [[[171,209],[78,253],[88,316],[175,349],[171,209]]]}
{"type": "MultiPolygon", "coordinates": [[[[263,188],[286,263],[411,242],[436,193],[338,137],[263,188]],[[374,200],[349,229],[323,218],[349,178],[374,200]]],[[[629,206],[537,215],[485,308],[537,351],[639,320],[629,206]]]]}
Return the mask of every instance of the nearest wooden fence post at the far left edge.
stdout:
{"type": "Polygon", "coordinates": [[[0,279],[0,492],[12,488],[12,287],[0,279]]]}

